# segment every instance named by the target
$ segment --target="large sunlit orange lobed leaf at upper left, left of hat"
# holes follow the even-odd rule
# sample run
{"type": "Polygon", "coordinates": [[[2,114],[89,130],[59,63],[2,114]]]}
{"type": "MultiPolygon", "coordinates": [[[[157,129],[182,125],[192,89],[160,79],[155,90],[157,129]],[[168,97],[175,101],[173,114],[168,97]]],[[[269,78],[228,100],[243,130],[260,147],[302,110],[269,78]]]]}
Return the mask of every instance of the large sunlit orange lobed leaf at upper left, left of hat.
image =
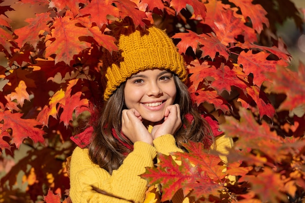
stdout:
{"type": "Polygon", "coordinates": [[[66,16],[56,18],[54,21],[54,29],[51,31],[51,36],[47,36],[46,40],[55,38],[46,47],[46,57],[56,54],[55,63],[64,61],[70,64],[73,56],[84,49],[90,48],[91,44],[85,41],[80,41],[81,36],[91,36],[92,33],[88,28],[76,26],[81,23],[78,19],[73,19],[72,13],[67,11],[66,16]]]}

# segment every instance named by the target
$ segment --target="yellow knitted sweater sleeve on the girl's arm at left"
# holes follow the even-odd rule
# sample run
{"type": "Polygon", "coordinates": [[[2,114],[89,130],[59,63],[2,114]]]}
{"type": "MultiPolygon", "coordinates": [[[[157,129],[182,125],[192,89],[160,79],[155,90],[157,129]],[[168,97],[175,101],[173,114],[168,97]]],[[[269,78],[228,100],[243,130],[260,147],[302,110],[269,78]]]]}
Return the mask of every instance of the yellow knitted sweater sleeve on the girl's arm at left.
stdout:
{"type": "Polygon", "coordinates": [[[126,200],[132,200],[134,203],[142,203],[145,198],[147,182],[139,175],[145,172],[145,167],[153,166],[155,156],[154,147],[144,142],[135,142],[133,152],[110,175],[106,170],[92,163],[88,149],[76,147],[70,165],[70,197],[72,202],[130,203],[126,200]],[[112,194],[114,197],[95,192],[91,185],[112,194]]]}

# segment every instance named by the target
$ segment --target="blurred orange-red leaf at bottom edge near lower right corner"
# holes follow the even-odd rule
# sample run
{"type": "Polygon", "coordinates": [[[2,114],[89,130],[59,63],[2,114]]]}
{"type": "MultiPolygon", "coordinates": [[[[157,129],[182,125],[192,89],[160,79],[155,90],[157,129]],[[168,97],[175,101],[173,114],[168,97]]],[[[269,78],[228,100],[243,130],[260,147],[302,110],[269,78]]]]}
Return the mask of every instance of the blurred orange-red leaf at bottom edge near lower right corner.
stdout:
{"type": "Polygon", "coordinates": [[[257,176],[244,176],[242,180],[251,183],[251,190],[260,197],[263,203],[277,203],[279,200],[287,199],[287,196],[281,192],[284,188],[281,174],[275,173],[270,168],[265,167],[264,171],[257,176]]]}

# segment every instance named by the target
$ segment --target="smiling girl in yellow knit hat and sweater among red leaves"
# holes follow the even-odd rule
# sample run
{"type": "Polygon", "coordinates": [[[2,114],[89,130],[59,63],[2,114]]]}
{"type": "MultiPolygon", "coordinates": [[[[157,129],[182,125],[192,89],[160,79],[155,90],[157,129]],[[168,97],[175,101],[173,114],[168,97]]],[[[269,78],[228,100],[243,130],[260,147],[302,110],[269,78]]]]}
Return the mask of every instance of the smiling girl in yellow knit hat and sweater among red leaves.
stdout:
{"type": "MultiPolygon", "coordinates": [[[[188,140],[223,153],[232,146],[224,136],[214,142],[210,127],[192,106],[183,58],[164,31],[126,29],[118,48],[103,60],[107,103],[94,136],[89,146],[76,147],[72,154],[73,203],[143,203],[147,183],[139,175],[153,166],[157,152],[183,152],[181,144],[188,140]]],[[[178,192],[172,202],[191,200],[178,192]]]]}

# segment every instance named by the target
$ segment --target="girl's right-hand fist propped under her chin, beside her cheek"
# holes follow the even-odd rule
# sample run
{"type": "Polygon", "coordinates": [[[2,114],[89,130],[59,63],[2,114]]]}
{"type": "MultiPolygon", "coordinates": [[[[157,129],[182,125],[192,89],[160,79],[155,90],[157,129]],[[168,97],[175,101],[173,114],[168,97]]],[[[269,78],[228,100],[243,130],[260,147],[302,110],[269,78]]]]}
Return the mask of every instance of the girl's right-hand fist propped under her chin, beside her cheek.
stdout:
{"type": "Polygon", "coordinates": [[[180,107],[178,104],[170,105],[164,112],[164,122],[153,126],[152,137],[156,139],[161,135],[172,134],[181,127],[182,121],[180,116],[180,107]]]}

